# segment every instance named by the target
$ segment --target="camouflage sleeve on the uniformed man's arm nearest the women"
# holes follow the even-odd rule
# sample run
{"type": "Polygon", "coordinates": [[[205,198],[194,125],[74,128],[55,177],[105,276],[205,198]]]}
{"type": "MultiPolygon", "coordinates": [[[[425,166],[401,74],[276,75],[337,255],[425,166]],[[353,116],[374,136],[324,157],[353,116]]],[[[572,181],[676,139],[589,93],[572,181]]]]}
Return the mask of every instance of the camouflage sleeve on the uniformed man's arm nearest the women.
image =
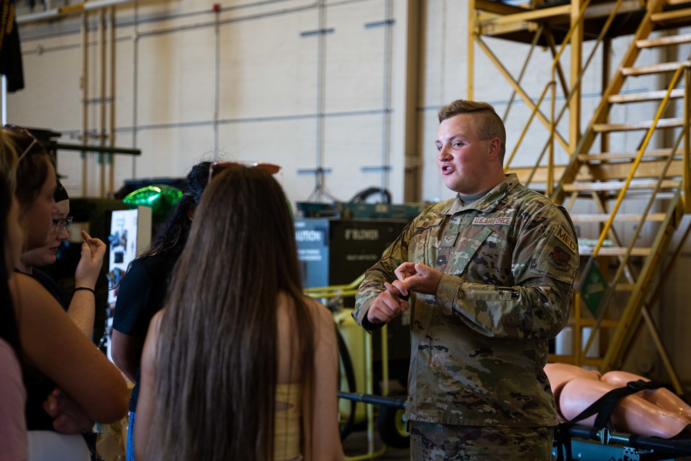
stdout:
{"type": "Polygon", "coordinates": [[[359,326],[369,332],[384,326],[384,323],[377,325],[370,323],[367,319],[367,311],[370,310],[370,306],[377,299],[379,293],[386,290],[384,282],[392,283],[395,281],[396,274],[394,271],[401,263],[408,261],[408,232],[411,225],[412,223],[406,226],[399,238],[384,252],[381,260],[365,272],[365,278],[355,295],[355,309],[352,312],[352,317],[359,326]]]}

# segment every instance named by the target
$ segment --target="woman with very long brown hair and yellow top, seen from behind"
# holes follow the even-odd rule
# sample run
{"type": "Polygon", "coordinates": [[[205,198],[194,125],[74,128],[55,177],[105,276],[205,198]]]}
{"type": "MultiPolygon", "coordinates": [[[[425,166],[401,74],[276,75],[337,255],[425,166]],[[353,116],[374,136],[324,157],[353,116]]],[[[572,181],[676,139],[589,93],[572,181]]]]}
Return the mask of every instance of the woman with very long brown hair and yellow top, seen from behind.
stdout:
{"type": "Polygon", "coordinates": [[[142,355],[138,460],[342,460],[334,324],[301,289],[285,195],[214,175],[142,355]]]}

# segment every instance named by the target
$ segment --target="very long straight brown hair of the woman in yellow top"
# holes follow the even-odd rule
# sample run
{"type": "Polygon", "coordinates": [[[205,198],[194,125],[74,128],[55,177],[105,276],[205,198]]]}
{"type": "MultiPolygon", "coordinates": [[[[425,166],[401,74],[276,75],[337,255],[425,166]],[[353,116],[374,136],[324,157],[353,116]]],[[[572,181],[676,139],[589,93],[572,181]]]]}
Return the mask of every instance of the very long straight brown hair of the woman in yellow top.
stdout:
{"type": "Polygon", "coordinates": [[[147,458],[272,460],[278,295],[290,299],[299,357],[292,369],[307,389],[314,321],[290,211],[269,173],[236,166],[214,177],[170,286],[147,458]]]}

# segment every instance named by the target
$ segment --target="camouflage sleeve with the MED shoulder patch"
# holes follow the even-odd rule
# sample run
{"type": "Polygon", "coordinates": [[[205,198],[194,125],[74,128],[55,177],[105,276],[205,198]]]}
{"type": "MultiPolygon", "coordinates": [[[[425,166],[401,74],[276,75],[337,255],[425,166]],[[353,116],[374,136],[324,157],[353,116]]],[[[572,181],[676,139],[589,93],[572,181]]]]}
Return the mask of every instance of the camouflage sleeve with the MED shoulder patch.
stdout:
{"type": "Polygon", "coordinates": [[[511,287],[442,275],[437,305],[482,335],[555,337],[569,319],[579,263],[576,232],[566,211],[550,206],[531,216],[518,234],[511,261],[511,287]]]}

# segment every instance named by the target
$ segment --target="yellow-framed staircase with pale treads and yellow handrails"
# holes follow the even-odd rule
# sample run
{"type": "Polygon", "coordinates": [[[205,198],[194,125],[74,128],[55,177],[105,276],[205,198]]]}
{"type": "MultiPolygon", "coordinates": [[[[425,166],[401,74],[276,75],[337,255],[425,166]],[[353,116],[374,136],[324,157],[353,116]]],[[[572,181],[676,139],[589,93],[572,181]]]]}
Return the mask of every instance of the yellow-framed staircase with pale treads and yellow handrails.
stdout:
{"type": "MultiPolygon", "coordinates": [[[[600,306],[594,312],[594,332],[585,350],[590,350],[598,330],[611,328],[613,332],[609,336],[600,370],[604,372],[621,368],[625,354],[636,337],[639,323],[643,320],[672,382],[681,391],[681,384],[650,310],[667,279],[660,272],[668,255],[672,235],[681,222],[683,212],[690,211],[687,200],[690,62],[687,57],[676,62],[636,64],[638,57],[647,50],[691,43],[691,34],[649,38],[661,22],[691,18],[691,8],[665,12],[665,4],[668,2],[663,0],[647,3],[643,20],[603,92],[603,98],[578,144],[576,155],[565,169],[553,197],[573,210],[579,197],[590,196],[596,209],[589,214],[572,211],[576,223],[598,223],[600,234],[594,239],[596,241],[580,247],[581,255],[589,256],[582,273],[587,276],[593,270],[591,265],[599,265],[607,283],[600,306]],[[659,75],[656,81],[668,84],[641,93],[622,91],[627,79],[643,75],[659,75]],[[675,100],[681,102],[684,116],[665,117],[675,100]],[[650,114],[650,110],[635,109],[636,105],[650,106],[650,103],[657,106],[652,120],[645,118],[620,122],[612,115],[618,106],[623,105],[630,106],[628,110],[620,111],[629,117],[650,114]],[[627,153],[591,153],[598,135],[602,138],[600,147],[606,148],[607,137],[613,133],[638,136],[641,139],[640,147],[637,151],[627,153]],[[659,143],[665,144],[663,147],[650,148],[654,135],[659,143]],[[636,212],[623,212],[626,203],[635,203],[636,212]],[[624,240],[617,232],[615,223],[636,223],[635,230],[624,240]],[[656,228],[652,240],[642,238],[641,232],[645,227],[649,231],[656,228]],[[621,305],[623,309],[617,310],[617,306],[621,305]]],[[[584,283],[582,289],[588,290],[590,286],[584,283]]],[[[580,305],[577,307],[579,310],[580,305]]],[[[582,319],[581,313],[578,312],[578,317],[582,319]]]]}

